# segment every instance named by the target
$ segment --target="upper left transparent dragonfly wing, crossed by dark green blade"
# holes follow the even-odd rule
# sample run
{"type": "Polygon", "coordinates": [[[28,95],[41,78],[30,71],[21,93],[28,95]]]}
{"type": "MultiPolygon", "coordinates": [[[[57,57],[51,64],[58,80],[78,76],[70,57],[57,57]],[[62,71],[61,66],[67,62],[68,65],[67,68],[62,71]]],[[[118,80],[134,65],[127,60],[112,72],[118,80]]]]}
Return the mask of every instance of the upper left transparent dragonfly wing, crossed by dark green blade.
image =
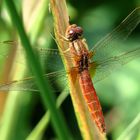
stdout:
{"type": "MultiPolygon", "coordinates": [[[[22,47],[19,47],[18,45],[19,43],[17,41],[3,41],[0,42],[0,60],[2,60],[3,58],[8,59],[10,57],[9,53],[10,51],[13,49],[15,49],[16,47],[16,53],[20,54],[20,60],[14,60],[14,63],[18,63],[21,65],[26,64],[26,56],[24,53],[24,49],[22,47]]],[[[58,49],[52,49],[52,48],[40,48],[40,47],[36,47],[34,48],[36,54],[39,56],[40,58],[40,63],[43,65],[45,65],[48,69],[52,68],[52,71],[55,70],[60,70],[63,69],[63,63],[61,60],[61,56],[65,55],[65,57],[68,58],[68,60],[70,60],[72,58],[72,56],[70,54],[64,54],[63,52],[60,53],[58,49]],[[53,60],[53,63],[52,63],[53,60]]]]}

